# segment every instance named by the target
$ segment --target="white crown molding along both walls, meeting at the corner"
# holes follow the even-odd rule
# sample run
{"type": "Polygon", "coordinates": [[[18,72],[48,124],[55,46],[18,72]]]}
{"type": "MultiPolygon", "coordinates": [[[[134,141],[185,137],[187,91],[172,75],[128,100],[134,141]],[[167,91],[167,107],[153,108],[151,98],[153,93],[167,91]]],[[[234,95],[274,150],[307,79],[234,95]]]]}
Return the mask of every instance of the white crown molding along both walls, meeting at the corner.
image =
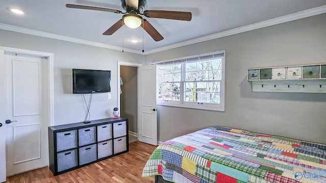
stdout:
{"type": "MultiPolygon", "coordinates": [[[[285,16],[282,16],[282,17],[273,18],[273,19],[270,19],[270,20],[265,20],[265,21],[261,21],[261,22],[258,22],[258,23],[238,27],[238,28],[233,28],[233,29],[230,29],[228,31],[221,32],[221,33],[216,33],[216,34],[212,34],[212,35],[209,35],[209,36],[204,36],[204,37],[201,37],[201,38],[196,38],[196,39],[192,39],[192,40],[172,44],[172,45],[169,45],[169,46],[154,48],[154,49],[151,49],[151,50],[147,50],[146,53],[142,53],[141,51],[138,51],[138,50],[125,49],[125,48],[124,48],[124,51],[125,52],[130,52],[130,53],[137,53],[137,54],[146,55],[146,54],[156,53],[156,52],[159,52],[159,51],[165,51],[165,50],[169,50],[169,49],[173,49],[173,48],[178,48],[178,47],[187,46],[187,45],[191,45],[191,44],[195,44],[195,43],[209,41],[209,40],[213,40],[213,39],[223,38],[223,37],[226,37],[226,36],[231,36],[231,35],[235,35],[235,34],[239,34],[239,33],[244,33],[244,32],[248,32],[248,31],[252,31],[254,29],[263,28],[263,27],[267,27],[267,26],[271,26],[271,25],[280,24],[280,23],[285,23],[285,22],[289,22],[289,21],[293,21],[293,20],[297,20],[297,19],[302,19],[302,18],[314,16],[314,15],[319,15],[319,14],[322,14],[322,13],[326,13],[326,5],[325,6],[320,6],[320,7],[317,7],[317,8],[312,8],[312,9],[309,9],[309,10],[304,10],[304,11],[297,12],[297,13],[292,13],[292,14],[285,15],[285,16]]],[[[0,29],[4,29],[6,31],[17,32],[17,33],[34,35],[34,36],[40,36],[40,37],[45,37],[45,38],[68,41],[68,42],[72,42],[72,43],[79,43],[79,44],[84,44],[84,45],[96,46],[96,47],[101,47],[101,48],[107,48],[107,49],[113,49],[113,50],[119,50],[119,51],[122,50],[122,47],[119,47],[119,46],[113,46],[113,45],[108,45],[108,44],[103,44],[103,43],[98,43],[98,42],[93,42],[93,41],[76,39],[76,38],[71,38],[71,37],[67,37],[67,36],[61,36],[61,35],[36,31],[36,30],[33,30],[33,29],[29,29],[29,28],[23,28],[23,27],[8,25],[8,24],[4,24],[4,23],[0,23],[0,29]]]]}

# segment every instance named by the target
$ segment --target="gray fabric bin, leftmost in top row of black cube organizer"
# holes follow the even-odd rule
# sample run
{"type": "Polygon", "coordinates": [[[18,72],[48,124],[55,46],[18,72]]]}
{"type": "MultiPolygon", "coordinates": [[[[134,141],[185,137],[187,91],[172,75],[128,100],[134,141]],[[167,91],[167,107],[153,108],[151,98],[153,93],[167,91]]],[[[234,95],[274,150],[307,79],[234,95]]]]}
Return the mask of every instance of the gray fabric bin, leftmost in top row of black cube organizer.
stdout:
{"type": "Polygon", "coordinates": [[[77,147],[77,130],[57,133],[57,152],[77,147]]]}

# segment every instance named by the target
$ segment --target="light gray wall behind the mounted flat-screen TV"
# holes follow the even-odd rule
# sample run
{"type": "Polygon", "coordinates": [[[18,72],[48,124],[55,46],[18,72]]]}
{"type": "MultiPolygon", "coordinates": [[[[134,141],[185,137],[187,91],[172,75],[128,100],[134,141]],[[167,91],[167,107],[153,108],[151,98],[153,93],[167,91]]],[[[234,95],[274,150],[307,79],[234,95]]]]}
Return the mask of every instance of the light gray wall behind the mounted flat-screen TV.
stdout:
{"type": "MultiPolygon", "coordinates": [[[[111,70],[111,94],[93,94],[91,120],[112,117],[118,104],[117,62],[140,63],[144,55],[20,34],[0,29],[0,46],[54,54],[55,125],[84,121],[86,106],[80,94],[72,94],[72,68],[111,70]]],[[[89,99],[86,95],[86,100],[89,99]]]]}

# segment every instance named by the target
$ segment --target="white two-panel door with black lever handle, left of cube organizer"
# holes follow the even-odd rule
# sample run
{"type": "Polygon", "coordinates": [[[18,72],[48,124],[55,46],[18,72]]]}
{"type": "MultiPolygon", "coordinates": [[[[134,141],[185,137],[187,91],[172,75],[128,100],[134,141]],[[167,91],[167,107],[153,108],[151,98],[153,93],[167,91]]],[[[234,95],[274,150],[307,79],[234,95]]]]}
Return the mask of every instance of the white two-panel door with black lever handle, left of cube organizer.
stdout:
{"type": "MultiPolygon", "coordinates": [[[[5,53],[7,176],[48,165],[47,58],[5,53]]],[[[3,130],[4,128],[2,128],[3,130]]],[[[3,135],[3,134],[2,134],[3,135]]]]}

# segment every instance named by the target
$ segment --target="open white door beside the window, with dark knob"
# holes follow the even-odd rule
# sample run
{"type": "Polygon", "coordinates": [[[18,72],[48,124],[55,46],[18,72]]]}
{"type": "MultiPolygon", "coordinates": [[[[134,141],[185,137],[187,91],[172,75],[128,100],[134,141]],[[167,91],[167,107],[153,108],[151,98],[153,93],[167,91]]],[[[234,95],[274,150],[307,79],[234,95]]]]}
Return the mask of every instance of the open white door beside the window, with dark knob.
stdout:
{"type": "Polygon", "coordinates": [[[138,140],[157,145],[156,65],[138,69],[138,140]]]}

